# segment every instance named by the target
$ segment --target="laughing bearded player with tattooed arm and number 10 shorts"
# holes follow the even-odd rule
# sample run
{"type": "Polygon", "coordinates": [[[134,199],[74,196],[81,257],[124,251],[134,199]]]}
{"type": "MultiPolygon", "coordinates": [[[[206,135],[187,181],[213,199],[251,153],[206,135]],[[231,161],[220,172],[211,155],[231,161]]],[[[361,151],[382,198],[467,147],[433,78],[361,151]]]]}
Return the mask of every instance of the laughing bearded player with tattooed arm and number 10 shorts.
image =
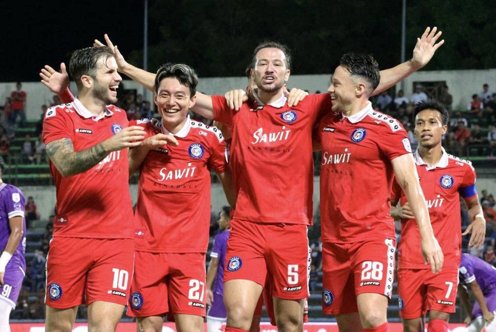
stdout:
{"type": "Polygon", "coordinates": [[[127,148],[140,145],[146,132],[109,105],[122,81],[111,50],[77,50],[69,68],[78,98],[48,109],[43,124],[58,212],[47,260],[46,327],[70,331],[86,303],[92,329],[113,331],[127,304],[134,256],[127,148]]]}

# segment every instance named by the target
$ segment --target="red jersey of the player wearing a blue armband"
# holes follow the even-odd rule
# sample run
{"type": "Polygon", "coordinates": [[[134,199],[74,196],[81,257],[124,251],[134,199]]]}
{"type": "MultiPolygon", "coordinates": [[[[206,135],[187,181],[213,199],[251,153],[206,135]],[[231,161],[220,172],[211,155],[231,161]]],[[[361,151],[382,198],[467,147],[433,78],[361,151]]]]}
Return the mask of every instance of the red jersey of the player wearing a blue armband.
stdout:
{"type": "MultiPolygon", "coordinates": [[[[417,150],[415,164],[426,197],[434,236],[444,254],[443,267],[458,267],[461,255],[460,196],[470,199],[477,195],[475,169],[470,162],[448,155],[444,149],[441,159],[433,167],[424,163],[417,150]]],[[[396,181],[392,199],[399,199],[401,205],[407,202],[396,181]]],[[[420,250],[420,232],[415,219],[401,220],[398,260],[399,268],[431,268],[424,264],[420,250]]]]}

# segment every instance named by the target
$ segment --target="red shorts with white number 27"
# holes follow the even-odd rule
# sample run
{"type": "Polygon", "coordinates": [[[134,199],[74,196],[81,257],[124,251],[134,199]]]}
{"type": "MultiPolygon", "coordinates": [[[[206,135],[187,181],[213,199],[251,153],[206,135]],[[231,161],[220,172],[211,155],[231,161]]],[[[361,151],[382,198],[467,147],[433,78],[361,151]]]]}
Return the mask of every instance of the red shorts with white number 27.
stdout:
{"type": "Polygon", "coordinates": [[[205,254],[136,251],[127,316],[205,312],[205,254]]]}

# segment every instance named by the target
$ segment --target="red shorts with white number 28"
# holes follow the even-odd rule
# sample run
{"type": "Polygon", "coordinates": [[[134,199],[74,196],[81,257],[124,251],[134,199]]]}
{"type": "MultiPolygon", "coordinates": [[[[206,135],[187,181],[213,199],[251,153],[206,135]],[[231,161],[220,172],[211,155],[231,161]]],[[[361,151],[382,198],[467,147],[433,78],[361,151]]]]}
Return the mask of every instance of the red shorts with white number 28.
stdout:
{"type": "Polygon", "coordinates": [[[393,239],[322,245],[322,311],[327,315],[358,312],[357,295],[391,298],[394,279],[393,239]]]}

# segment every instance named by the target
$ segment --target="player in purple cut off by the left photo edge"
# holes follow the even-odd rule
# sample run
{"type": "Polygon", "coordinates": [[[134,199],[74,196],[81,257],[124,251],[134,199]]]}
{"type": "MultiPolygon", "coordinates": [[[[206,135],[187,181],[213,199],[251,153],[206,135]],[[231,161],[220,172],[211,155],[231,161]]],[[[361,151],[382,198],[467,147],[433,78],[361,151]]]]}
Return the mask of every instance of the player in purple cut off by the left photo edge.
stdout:
{"type": "MultiPolygon", "coordinates": [[[[1,157],[0,157],[1,158],[1,157]]],[[[15,308],[26,271],[26,222],[24,195],[19,188],[3,183],[0,159],[0,331],[10,332],[8,317],[15,308]]]]}

